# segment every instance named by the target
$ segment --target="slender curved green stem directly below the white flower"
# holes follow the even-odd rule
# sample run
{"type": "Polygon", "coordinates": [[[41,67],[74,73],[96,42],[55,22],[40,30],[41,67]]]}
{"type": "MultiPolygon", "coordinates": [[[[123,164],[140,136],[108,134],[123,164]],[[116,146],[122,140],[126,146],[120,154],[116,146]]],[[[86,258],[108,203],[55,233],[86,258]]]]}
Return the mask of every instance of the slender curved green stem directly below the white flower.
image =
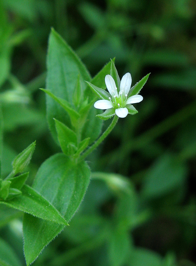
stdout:
{"type": "Polygon", "coordinates": [[[113,120],[112,120],[112,122],[111,122],[111,124],[106,129],[106,131],[103,132],[101,137],[99,137],[98,140],[96,140],[93,143],[93,145],[91,145],[87,150],[85,150],[85,152],[80,156],[80,160],[85,159],[90,153],[92,153],[93,150],[96,149],[96,147],[99,146],[99,144],[108,136],[108,134],[110,134],[110,132],[112,131],[112,129],[116,125],[118,119],[119,119],[118,116],[115,115],[113,120]]]}

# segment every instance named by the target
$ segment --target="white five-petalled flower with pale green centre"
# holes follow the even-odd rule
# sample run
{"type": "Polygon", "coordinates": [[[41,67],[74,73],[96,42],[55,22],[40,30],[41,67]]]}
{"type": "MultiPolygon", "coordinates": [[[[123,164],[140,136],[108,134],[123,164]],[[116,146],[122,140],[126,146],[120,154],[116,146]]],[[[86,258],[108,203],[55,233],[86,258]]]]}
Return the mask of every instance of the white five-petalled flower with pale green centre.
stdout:
{"type": "Polygon", "coordinates": [[[108,97],[108,100],[98,100],[94,103],[94,107],[97,109],[110,109],[115,108],[115,113],[118,117],[126,117],[129,113],[128,111],[128,104],[132,103],[139,103],[143,100],[143,97],[141,95],[133,95],[129,98],[127,98],[130,87],[131,87],[131,74],[126,73],[122,77],[122,80],[120,82],[120,90],[118,93],[115,81],[111,75],[106,75],[105,77],[105,83],[106,87],[108,89],[108,92],[110,93],[111,97],[108,97]]]}

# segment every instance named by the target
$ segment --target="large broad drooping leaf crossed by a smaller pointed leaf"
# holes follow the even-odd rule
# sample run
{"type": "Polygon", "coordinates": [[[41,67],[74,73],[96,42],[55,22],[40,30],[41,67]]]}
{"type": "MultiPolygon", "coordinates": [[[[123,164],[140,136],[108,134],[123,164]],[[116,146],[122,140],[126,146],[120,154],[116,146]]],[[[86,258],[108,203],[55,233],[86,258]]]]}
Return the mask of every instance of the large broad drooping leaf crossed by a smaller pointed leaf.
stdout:
{"type": "MultiPolygon", "coordinates": [[[[90,169],[84,161],[74,163],[63,153],[47,159],[39,168],[33,187],[69,221],[84,197],[90,169]]],[[[64,226],[24,215],[24,251],[27,265],[32,263],[64,226]]]]}

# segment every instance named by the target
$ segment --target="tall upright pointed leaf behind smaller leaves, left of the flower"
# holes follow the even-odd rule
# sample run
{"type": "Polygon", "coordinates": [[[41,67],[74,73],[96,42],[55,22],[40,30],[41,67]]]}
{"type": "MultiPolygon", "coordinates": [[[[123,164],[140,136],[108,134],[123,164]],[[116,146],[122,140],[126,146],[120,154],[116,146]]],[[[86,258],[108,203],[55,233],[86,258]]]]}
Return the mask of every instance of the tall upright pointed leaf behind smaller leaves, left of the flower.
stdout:
{"type": "MultiPolygon", "coordinates": [[[[78,75],[80,74],[82,90],[86,88],[84,80],[90,81],[91,79],[87,69],[74,51],[53,29],[49,37],[47,70],[46,89],[54,93],[56,97],[66,100],[70,105],[72,105],[78,75]]],[[[58,103],[48,96],[46,97],[46,104],[49,128],[58,143],[53,118],[55,117],[70,127],[69,116],[58,103]]]]}

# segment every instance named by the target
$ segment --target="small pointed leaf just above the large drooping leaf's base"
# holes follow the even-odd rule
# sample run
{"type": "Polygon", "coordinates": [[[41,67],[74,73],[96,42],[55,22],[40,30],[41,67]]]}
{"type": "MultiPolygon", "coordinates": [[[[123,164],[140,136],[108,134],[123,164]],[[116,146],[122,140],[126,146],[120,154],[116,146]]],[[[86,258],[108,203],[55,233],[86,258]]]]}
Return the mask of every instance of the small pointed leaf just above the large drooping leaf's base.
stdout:
{"type": "Polygon", "coordinates": [[[55,120],[56,131],[58,134],[58,140],[61,146],[61,149],[65,155],[73,155],[69,154],[68,144],[71,142],[75,146],[77,146],[77,136],[73,130],[67,127],[65,124],[60,121],[55,120]]]}

